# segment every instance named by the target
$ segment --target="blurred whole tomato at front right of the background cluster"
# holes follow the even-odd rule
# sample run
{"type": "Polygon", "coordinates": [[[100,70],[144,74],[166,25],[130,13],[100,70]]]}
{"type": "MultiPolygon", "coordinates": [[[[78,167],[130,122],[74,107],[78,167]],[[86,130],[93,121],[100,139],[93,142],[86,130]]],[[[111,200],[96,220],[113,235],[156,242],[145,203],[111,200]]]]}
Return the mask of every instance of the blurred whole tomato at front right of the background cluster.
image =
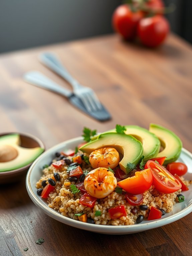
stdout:
{"type": "Polygon", "coordinates": [[[169,33],[169,23],[161,15],[143,18],[138,24],[137,34],[141,42],[149,47],[163,43],[169,33]]]}

